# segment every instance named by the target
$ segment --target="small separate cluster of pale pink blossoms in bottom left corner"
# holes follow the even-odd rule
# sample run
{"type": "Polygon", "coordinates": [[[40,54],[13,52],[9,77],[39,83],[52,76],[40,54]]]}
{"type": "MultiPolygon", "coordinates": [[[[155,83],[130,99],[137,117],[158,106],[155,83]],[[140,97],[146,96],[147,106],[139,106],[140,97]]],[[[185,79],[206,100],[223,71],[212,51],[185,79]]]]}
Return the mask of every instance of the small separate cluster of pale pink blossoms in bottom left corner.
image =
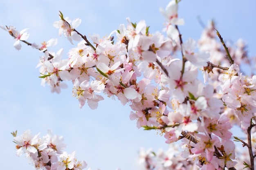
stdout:
{"type": "MultiPolygon", "coordinates": [[[[14,134],[14,133],[13,133],[14,134]]],[[[14,135],[16,143],[16,155],[20,157],[23,153],[29,162],[37,169],[42,170],[82,170],[86,168],[85,161],[76,160],[76,152],[68,155],[63,152],[66,145],[62,136],[53,135],[48,130],[46,136],[40,138],[40,133],[33,135],[31,130],[26,130],[21,136],[14,135]],[[58,160],[58,158],[60,160],[58,160]]]]}

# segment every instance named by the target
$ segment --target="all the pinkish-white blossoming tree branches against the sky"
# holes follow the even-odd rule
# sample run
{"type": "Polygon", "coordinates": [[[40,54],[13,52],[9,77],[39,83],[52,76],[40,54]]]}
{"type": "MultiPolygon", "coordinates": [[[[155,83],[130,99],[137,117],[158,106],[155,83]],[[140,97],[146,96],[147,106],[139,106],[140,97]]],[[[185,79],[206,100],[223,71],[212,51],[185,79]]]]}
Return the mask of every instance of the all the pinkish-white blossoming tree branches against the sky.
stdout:
{"type": "MultiPolygon", "coordinates": [[[[184,40],[179,3],[172,0],[160,9],[166,19],[165,33],[151,33],[145,20],[127,18],[127,25],[120,24],[103,38],[85,36],[78,27],[81,19],[71,20],[59,11],[54,27],[71,44],[78,42],[64,59],[63,49],[50,51],[56,39],[38,45],[27,40],[27,29],[1,28],[15,38],[17,50],[23,42],[42,52],[40,78],[52,92],[60,93],[67,87],[65,81],[71,81],[80,108],[97,109],[105,94],[130,106],[130,119],[137,121],[137,128],[158,130],[170,149],[141,150],[145,169],[254,170],[256,77],[253,72],[249,76],[240,71],[240,65],[249,60],[245,44],[241,40],[237,47],[225,44],[214,22],[204,28],[198,42],[184,40]],[[233,126],[239,126],[246,139],[232,135],[233,126]],[[240,152],[235,144],[248,150],[240,152]]],[[[25,153],[38,169],[81,170],[87,166],[76,160],[76,152],[63,151],[63,137],[51,130],[44,137],[30,130],[12,135],[16,155],[25,153]]]]}

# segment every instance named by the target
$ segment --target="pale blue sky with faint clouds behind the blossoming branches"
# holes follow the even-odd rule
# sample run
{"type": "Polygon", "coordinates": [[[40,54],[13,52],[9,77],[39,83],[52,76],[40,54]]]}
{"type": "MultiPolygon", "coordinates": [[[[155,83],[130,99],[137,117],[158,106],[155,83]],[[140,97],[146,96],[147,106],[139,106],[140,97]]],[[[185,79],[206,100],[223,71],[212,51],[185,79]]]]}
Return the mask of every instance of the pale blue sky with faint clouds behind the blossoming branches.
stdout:
{"type": "MultiPolygon", "coordinates": [[[[29,42],[40,44],[51,38],[58,38],[58,45],[52,48],[65,53],[74,46],[52,24],[58,20],[58,11],[70,18],[81,18],[77,28],[81,33],[99,33],[108,35],[119,24],[127,24],[126,17],[132,22],[146,20],[150,32],[161,31],[164,18],[159,7],[165,7],[167,0],[0,0],[0,25],[15,26],[19,31],[29,28],[29,42]]],[[[236,41],[243,38],[249,46],[249,54],[256,55],[256,2],[215,0],[180,2],[179,16],[185,25],[180,26],[183,41],[188,38],[198,40],[202,32],[197,17],[207,24],[211,19],[217,23],[217,29],[225,40],[236,41]]],[[[97,110],[91,110],[86,104],[79,109],[79,102],[72,97],[72,84],[61,94],[51,93],[49,87],[40,86],[39,71],[35,66],[39,56],[37,50],[22,44],[17,51],[13,47],[13,38],[4,30],[1,37],[1,84],[0,84],[0,132],[2,154],[1,168],[8,170],[32,169],[27,159],[16,157],[15,144],[10,132],[31,129],[34,134],[47,129],[54,134],[63,135],[66,151],[76,151],[78,160],[85,160],[93,170],[136,170],[138,150],[145,148],[168,148],[164,137],[156,131],[137,129],[136,121],[130,121],[129,106],[109,99],[99,103],[97,110]]],[[[51,49],[50,49],[51,50],[51,49]]],[[[88,168],[86,168],[88,169],[88,168]]]]}

